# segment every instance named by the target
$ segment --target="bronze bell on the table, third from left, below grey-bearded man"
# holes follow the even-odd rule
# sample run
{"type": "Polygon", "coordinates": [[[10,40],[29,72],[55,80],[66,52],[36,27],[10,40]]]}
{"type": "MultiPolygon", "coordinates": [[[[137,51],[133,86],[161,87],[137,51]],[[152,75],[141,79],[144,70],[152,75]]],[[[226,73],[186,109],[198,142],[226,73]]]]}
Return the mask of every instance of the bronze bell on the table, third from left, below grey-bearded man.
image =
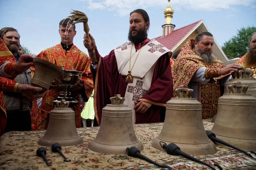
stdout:
{"type": "MultiPolygon", "coordinates": [[[[208,155],[217,152],[215,144],[207,137],[202,119],[202,105],[192,98],[193,90],[181,85],[175,90],[177,97],[166,103],[163,128],[152,147],[164,151],[160,142],[175,143],[190,155],[208,155]]],[[[163,143],[162,143],[163,144],[163,143]]]]}

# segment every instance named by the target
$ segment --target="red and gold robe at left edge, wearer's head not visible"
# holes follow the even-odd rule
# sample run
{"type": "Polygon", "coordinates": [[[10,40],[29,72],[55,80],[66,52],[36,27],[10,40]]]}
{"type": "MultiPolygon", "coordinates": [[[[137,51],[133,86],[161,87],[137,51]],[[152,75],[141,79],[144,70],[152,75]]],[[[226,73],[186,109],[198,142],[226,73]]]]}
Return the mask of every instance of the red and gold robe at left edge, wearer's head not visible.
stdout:
{"type": "Polygon", "coordinates": [[[9,51],[3,40],[0,39],[0,65],[2,65],[4,62],[9,62],[5,65],[4,71],[6,72],[6,74],[9,74],[12,77],[10,79],[0,77],[0,136],[4,132],[7,121],[3,91],[16,92],[17,86],[19,85],[19,83],[11,80],[15,79],[15,77],[17,76],[14,70],[14,66],[16,64],[15,58],[12,55],[11,51],[9,51]]]}

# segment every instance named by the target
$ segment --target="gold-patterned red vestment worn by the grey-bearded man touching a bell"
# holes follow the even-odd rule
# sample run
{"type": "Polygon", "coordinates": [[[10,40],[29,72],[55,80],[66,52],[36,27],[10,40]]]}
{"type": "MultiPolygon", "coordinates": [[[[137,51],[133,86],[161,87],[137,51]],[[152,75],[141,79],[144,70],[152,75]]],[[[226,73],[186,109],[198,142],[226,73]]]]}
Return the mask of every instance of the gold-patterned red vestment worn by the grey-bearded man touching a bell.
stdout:
{"type": "MultiPolygon", "coordinates": [[[[202,118],[209,119],[217,114],[218,98],[221,96],[219,79],[229,75],[220,75],[221,68],[226,65],[215,57],[215,62],[208,64],[199,57],[192,49],[194,40],[189,40],[183,46],[175,60],[173,67],[173,84],[174,90],[180,85],[198,85],[199,102],[202,104],[202,118]],[[198,83],[191,81],[195,72],[201,68],[206,67],[205,77],[210,79],[207,83],[198,83]]],[[[174,96],[176,96],[174,91],[174,96]]]]}

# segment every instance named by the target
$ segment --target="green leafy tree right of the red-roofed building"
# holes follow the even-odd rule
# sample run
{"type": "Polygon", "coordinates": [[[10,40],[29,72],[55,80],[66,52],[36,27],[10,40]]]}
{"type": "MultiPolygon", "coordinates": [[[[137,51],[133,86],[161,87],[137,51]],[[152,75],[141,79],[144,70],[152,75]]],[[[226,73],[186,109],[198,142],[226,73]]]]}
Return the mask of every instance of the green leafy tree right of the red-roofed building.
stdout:
{"type": "Polygon", "coordinates": [[[247,28],[240,28],[237,30],[235,36],[230,38],[230,40],[224,42],[224,45],[221,46],[224,53],[227,55],[227,58],[236,58],[243,56],[249,50],[250,37],[256,31],[255,26],[247,26],[247,28]]]}

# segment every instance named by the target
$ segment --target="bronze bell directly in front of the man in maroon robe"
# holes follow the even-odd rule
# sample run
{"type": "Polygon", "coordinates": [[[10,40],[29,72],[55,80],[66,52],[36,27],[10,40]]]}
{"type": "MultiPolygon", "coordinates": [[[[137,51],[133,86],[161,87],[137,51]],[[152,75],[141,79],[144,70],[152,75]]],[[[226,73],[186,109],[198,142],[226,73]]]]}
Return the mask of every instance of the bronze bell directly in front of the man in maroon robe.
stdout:
{"type": "Polygon", "coordinates": [[[125,98],[118,94],[111,97],[110,101],[111,105],[102,109],[99,132],[89,149],[107,154],[126,154],[126,148],[133,146],[143,150],[134,132],[131,109],[123,104],[125,98]]]}

